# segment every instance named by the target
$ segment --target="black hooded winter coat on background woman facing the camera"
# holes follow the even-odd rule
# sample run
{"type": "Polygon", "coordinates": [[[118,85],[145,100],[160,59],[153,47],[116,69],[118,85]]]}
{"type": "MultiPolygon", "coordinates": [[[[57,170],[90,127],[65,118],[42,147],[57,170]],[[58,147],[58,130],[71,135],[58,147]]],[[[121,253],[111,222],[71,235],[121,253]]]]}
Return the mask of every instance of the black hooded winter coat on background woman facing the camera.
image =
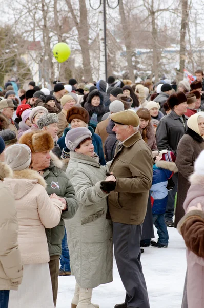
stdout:
{"type": "MultiPolygon", "coordinates": [[[[104,106],[104,97],[103,94],[100,93],[100,91],[93,90],[89,93],[87,102],[84,104],[84,108],[89,112],[89,121],[91,120],[91,117],[93,113],[97,114],[97,120],[98,123],[101,121],[101,118],[103,117],[105,113],[105,106],[104,106]],[[91,105],[91,100],[93,99],[94,96],[96,96],[96,93],[99,94],[100,97],[100,105],[95,107],[91,105]]],[[[93,127],[95,129],[96,127],[93,127]]]]}

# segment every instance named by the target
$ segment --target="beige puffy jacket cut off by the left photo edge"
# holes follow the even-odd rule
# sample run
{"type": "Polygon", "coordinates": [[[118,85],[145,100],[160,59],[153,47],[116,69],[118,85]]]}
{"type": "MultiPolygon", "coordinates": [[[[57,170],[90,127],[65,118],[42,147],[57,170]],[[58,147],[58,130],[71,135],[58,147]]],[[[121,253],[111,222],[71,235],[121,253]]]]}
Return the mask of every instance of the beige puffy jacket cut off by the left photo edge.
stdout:
{"type": "MultiPolygon", "coordinates": [[[[12,171],[0,162],[1,179],[11,177],[12,171]]],[[[18,221],[15,200],[11,191],[0,180],[0,290],[17,290],[22,281],[23,267],[18,249],[18,221]]]]}

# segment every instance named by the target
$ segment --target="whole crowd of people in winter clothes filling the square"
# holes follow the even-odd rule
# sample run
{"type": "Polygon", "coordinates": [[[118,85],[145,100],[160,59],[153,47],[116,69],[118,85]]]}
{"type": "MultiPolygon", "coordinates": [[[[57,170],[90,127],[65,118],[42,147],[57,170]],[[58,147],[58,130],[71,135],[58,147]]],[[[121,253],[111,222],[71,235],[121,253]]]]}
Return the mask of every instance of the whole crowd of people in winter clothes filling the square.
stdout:
{"type": "Polygon", "coordinates": [[[115,308],[149,308],[140,257],[168,248],[169,227],[187,246],[182,308],[203,306],[202,70],[195,76],[177,86],[113,76],[52,91],[5,84],[0,308],[56,307],[59,275],[75,277],[72,308],[99,307],[92,290],[113,280],[113,247],[126,291],[115,308]]]}

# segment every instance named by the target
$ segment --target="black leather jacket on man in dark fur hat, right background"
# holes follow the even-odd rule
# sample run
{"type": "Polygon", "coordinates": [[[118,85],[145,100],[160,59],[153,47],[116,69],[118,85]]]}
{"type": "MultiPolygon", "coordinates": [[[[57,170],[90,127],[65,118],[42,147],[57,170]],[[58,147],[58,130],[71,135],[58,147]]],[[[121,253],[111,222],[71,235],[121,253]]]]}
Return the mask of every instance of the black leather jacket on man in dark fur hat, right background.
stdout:
{"type": "Polygon", "coordinates": [[[162,118],[156,129],[156,140],[158,150],[172,151],[176,155],[178,143],[187,130],[187,119],[181,117],[174,110],[162,118]]]}

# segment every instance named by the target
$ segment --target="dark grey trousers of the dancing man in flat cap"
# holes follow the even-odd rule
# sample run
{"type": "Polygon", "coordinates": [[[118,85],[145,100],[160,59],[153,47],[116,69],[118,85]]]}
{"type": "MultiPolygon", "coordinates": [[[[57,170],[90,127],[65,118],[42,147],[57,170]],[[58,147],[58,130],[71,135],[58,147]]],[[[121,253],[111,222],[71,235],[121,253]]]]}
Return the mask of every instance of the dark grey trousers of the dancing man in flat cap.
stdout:
{"type": "Polygon", "coordinates": [[[127,307],[149,308],[145,277],[140,263],[142,225],[113,222],[113,244],[118,272],[126,290],[127,307]]]}

